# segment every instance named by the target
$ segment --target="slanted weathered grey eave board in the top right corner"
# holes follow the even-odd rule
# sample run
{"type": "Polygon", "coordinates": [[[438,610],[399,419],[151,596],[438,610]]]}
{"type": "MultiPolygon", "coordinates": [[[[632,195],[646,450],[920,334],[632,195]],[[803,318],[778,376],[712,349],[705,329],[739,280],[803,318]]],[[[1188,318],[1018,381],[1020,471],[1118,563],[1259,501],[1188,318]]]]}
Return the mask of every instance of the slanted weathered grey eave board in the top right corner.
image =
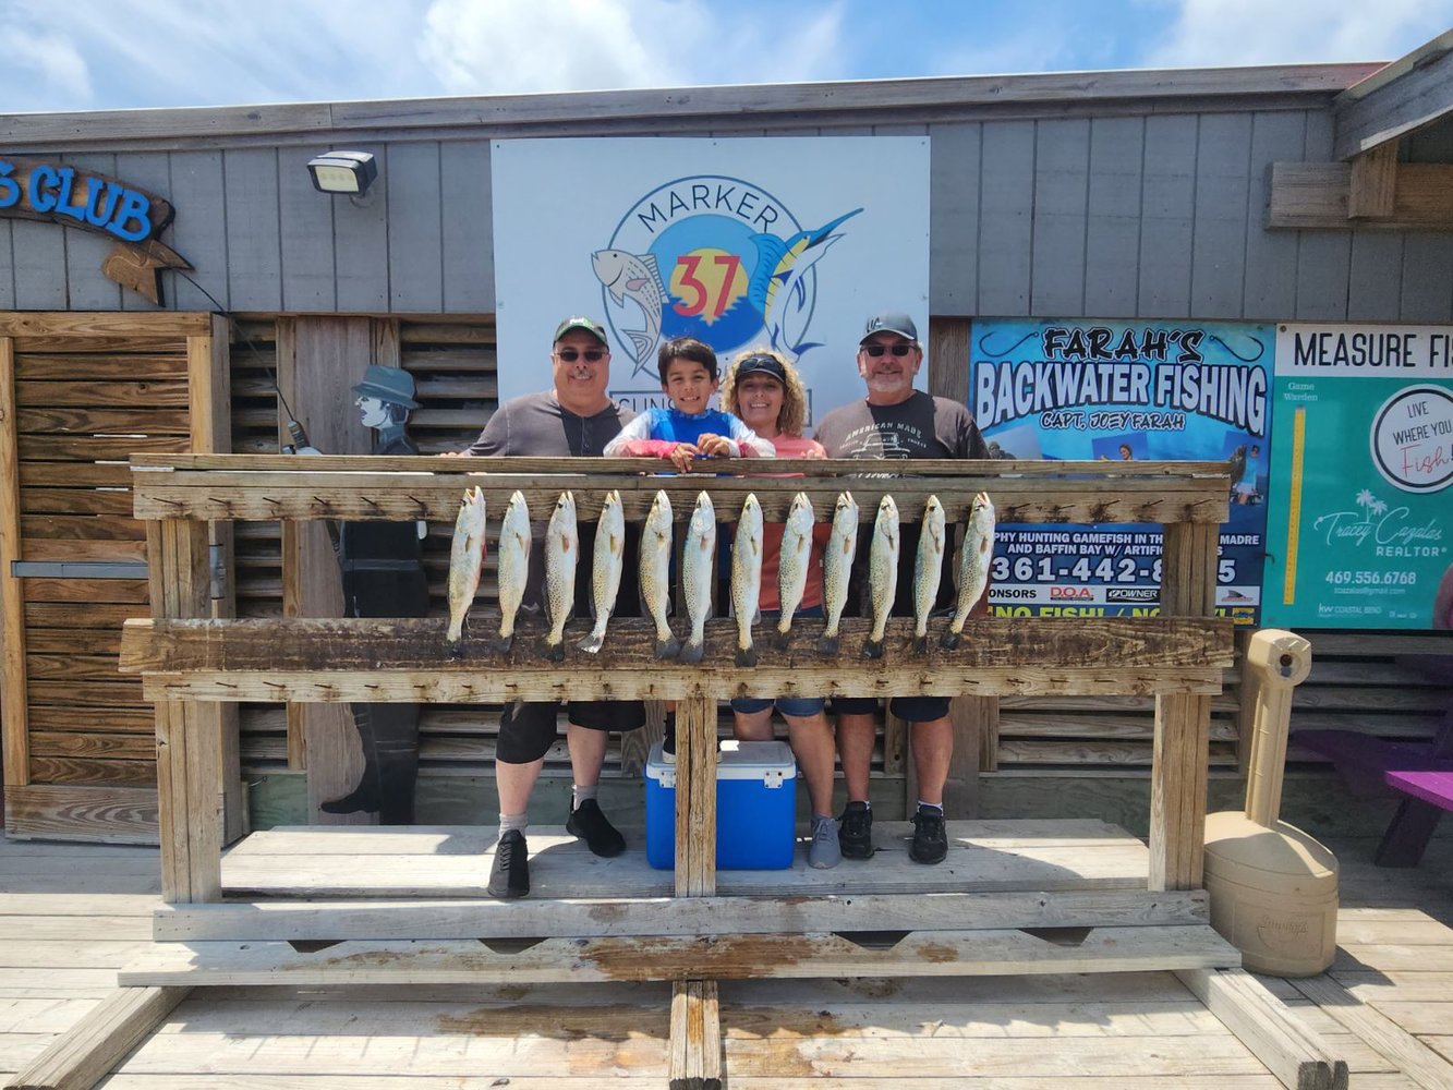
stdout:
{"type": "Polygon", "coordinates": [[[1332,102],[1332,154],[1350,160],[1453,113],[1453,31],[1332,102]]]}

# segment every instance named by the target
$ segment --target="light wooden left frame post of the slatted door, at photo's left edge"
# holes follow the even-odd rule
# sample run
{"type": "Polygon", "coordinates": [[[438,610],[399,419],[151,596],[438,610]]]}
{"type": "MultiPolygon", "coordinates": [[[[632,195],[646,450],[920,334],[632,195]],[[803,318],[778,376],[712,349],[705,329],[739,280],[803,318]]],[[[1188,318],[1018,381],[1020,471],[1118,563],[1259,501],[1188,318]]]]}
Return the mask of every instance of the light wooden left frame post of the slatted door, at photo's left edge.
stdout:
{"type": "Polygon", "coordinates": [[[15,342],[0,336],[0,737],[4,785],[31,782],[25,676],[25,593],[10,564],[20,555],[20,456],[16,435],[15,342]]]}

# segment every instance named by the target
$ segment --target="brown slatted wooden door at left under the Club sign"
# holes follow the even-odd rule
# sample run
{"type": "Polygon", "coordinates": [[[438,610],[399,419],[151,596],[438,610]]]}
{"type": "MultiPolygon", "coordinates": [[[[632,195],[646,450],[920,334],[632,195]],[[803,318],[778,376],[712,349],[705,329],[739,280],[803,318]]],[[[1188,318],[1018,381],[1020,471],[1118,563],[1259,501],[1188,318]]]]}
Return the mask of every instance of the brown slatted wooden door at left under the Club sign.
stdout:
{"type": "MultiPolygon", "coordinates": [[[[151,613],[126,461],[230,449],[227,346],[227,323],[212,314],[0,314],[10,836],[157,841],[153,708],[116,671],[122,622],[151,613]]],[[[225,570],[228,542],[214,541],[225,570]]],[[[218,597],[225,615],[225,590],[218,597]]],[[[235,824],[235,741],[228,750],[235,824]]]]}

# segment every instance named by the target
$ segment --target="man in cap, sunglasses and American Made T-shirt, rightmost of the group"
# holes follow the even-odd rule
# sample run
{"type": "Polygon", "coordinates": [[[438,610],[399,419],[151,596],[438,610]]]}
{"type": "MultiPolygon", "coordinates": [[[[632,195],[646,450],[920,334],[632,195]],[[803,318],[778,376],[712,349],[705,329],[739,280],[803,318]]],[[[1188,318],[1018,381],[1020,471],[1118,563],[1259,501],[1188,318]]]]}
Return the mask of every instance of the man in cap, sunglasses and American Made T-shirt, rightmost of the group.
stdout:
{"type": "MultiPolygon", "coordinates": [[[[989,451],[969,410],[959,401],[914,389],[923,366],[918,327],[902,312],[867,320],[857,344],[857,374],[867,384],[862,401],[834,408],[818,424],[817,440],[828,458],[988,458],[989,451]]],[[[870,532],[870,528],[869,528],[870,532]]],[[[920,525],[904,522],[898,552],[895,616],[912,615],[912,568],[920,525]]],[[[859,545],[854,586],[866,594],[869,549],[859,545]]],[[[953,597],[953,557],[944,549],[940,605],[953,597]]],[[[870,698],[833,698],[837,714],[837,754],[847,785],[847,808],[838,824],[838,844],[849,859],[873,855],[873,811],[867,801],[867,769],[873,757],[878,702],[870,698]]],[[[942,862],[949,850],[943,824],[943,786],[953,759],[953,724],[947,696],[895,696],[894,715],[912,731],[912,760],[918,773],[918,808],[908,857],[915,863],[942,862]]]]}

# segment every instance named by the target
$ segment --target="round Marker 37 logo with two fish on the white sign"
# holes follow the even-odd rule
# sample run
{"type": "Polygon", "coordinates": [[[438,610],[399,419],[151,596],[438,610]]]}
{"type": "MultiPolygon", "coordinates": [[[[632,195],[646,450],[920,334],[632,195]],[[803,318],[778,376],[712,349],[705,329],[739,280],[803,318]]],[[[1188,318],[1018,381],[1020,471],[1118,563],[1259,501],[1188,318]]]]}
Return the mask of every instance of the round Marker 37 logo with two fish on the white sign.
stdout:
{"type": "Polygon", "coordinates": [[[718,355],[769,343],[790,360],[808,340],[817,263],[843,237],[854,208],[817,230],[761,186],[695,174],[652,189],[590,256],[606,321],[635,363],[655,374],[657,349],[696,337],[718,355]]]}

